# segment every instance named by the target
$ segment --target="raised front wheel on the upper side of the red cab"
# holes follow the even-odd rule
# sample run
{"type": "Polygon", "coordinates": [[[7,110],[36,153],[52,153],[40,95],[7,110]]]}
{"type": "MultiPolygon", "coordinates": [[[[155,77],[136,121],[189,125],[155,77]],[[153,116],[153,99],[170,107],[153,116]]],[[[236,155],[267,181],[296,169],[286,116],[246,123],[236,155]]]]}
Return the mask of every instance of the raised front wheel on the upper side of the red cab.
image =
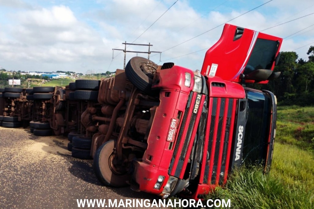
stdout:
{"type": "Polygon", "coordinates": [[[125,67],[125,74],[133,85],[139,90],[149,94],[157,68],[158,65],[149,59],[133,57],[125,67]]]}

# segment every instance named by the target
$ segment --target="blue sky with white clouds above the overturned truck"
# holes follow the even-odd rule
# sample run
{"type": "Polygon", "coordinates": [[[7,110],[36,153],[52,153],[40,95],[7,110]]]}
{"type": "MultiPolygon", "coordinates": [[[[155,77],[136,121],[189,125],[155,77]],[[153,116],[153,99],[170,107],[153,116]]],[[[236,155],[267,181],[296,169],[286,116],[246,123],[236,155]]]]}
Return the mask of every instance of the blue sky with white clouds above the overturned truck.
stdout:
{"type": "MultiPolygon", "coordinates": [[[[268,1],[0,0],[0,66],[26,72],[115,72],[123,69],[124,54],[112,49],[124,49],[126,41],[153,45],[150,51],[162,52],[150,54],[155,63],[196,70],[226,22],[284,38],[280,51],[295,51],[308,60],[306,52],[314,46],[314,1],[268,1]]],[[[127,50],[147,52],[148,47],[127,45],[127,50]]],[[[126,62],[134,56],[147,58],[127,52],[126,62]]]]}

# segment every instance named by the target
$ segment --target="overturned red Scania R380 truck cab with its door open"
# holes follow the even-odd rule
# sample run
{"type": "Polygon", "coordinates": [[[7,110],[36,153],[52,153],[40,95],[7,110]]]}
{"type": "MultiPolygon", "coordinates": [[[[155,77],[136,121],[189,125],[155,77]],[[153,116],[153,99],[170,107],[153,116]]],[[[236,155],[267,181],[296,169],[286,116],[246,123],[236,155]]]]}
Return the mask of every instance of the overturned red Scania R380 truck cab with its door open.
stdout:
{"type": "Polygon", "coordinates": [[[105,185],[199,199],[244,163],[272,162],[282,38],[226,24],[201,71],[134,57],[101,81],[91,155],[105,185]]]}

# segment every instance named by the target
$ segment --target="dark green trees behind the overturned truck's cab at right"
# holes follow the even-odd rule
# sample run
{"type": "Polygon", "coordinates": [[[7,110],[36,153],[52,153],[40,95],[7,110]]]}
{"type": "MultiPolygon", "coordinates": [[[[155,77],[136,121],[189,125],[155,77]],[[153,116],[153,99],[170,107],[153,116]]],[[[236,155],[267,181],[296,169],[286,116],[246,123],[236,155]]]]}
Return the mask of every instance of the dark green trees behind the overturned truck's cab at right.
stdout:
{"type": "Polygon", "coordinates": [[[314,46],[307,51],[309,60],[298,59],[296,52],[280,52],[280,59],[274,72],[280,77],[267,85],[251,84],[248,87],[272,91],[279,105],[314,104],[314,46]]]}

